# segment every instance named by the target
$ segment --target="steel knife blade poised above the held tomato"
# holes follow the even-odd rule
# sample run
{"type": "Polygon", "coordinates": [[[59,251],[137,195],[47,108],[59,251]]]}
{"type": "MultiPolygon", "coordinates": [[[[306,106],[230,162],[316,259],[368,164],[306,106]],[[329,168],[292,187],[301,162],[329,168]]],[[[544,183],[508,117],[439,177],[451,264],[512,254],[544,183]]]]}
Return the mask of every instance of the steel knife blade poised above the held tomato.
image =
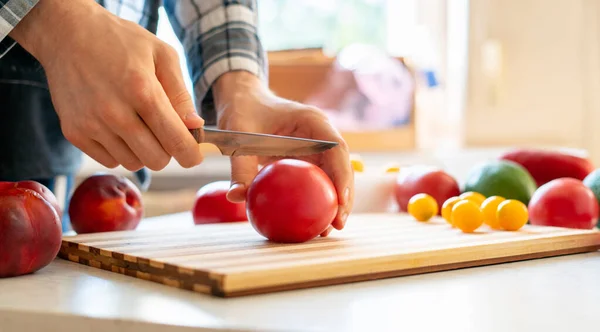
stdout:
{"type": "Polygon", "coordinates": [[[214,144],[225,156],[305,156],[338,145],[337,142],[213,128],[190,129],[190,133],[198,144],[214,144]]]}

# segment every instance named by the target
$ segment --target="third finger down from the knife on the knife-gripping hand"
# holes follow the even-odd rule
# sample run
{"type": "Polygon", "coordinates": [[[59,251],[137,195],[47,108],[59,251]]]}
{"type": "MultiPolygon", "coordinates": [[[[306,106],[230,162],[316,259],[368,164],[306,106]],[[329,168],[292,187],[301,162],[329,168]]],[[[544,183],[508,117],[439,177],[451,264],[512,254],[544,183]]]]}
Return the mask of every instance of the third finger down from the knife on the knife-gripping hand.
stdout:
{"type": "Polygon", "coordinates": [[[171,159],[169,154],[137,113],[123,112],[121,121],[127,125],[115,128],[115,133],[125,141],[137,158],[153,171],[165,168],[171,159]]]}

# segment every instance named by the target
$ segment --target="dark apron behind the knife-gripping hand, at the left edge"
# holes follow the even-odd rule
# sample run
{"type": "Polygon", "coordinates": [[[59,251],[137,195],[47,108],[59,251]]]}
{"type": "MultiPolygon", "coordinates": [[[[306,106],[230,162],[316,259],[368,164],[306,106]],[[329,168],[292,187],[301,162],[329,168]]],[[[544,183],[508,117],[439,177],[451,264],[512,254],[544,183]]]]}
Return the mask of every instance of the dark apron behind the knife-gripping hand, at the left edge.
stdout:
{"type": "Polygon", "coordinates": [[[81,155],[62,134],[41,65],[15,45],[0,58],[0,181],[38,181],[68,209],[81,155]]]}

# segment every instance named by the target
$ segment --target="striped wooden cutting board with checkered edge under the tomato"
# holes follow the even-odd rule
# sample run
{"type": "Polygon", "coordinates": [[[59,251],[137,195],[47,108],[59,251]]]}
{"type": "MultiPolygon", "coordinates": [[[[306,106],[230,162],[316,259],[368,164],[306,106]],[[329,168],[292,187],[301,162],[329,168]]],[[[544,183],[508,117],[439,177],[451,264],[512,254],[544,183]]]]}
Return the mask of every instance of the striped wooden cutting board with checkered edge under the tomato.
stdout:
{"type": "Polygon", "coordinates": [[[346,228],[276,244],[249,223],[65,237],[64,259],[221,297],[451,270],[600,249],[600,232],[526,225],[465,234],[441,218],[352,215],[346,228]]]}

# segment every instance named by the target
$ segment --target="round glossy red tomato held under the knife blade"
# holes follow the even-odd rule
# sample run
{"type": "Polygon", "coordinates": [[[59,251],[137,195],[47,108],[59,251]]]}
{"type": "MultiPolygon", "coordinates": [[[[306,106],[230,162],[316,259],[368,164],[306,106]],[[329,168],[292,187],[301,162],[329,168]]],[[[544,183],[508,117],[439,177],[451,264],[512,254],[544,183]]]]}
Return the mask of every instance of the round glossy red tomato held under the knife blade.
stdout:
{"type": "Polygon", "coordinates": [[[283,159],[260,170],[246,200],[248,220],[274,242],[306,242],[325,231],[337,214],[335,187],[319,167],[283,159]]]}

